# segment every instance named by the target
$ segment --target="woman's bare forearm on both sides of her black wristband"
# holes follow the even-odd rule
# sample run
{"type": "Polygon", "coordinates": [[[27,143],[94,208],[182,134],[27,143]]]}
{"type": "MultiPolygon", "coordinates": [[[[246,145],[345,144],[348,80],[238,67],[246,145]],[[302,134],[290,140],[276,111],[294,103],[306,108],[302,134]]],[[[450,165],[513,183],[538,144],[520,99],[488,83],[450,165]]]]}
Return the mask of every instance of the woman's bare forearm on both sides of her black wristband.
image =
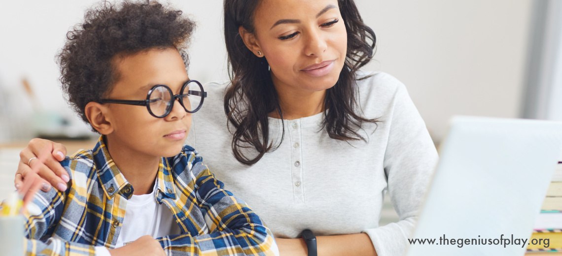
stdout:
{"type": "MultiPolygon", "coordinates": [[[[277,238],[280,256],[307,256],[308,248],[303,239],[277,238]]],[[[319,256],[377,256],[369,235],[351,234],[337,236],[316,236],[319,256]]]]}

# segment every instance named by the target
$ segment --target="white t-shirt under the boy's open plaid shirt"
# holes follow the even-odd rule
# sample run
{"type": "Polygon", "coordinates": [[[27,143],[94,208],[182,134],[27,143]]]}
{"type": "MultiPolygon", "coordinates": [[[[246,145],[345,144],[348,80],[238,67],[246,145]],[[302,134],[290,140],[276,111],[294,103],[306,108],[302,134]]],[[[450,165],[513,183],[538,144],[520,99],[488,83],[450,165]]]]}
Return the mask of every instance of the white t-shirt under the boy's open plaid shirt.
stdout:
{"type": "MultiPolygon", "coordinates": [[[[156,201],[156,182],[152,193],[144,195],[132,195],[127,200],[123,226],[117,237],[115,248],[124,243],[137,240],[141,236],[151,235],[154,238],[181,234],[180,227],[174,220],[174,216],[164,204],[156,201]]],[[[110,256],[105,246],[96,246],[96,255],[110,256]]]]}

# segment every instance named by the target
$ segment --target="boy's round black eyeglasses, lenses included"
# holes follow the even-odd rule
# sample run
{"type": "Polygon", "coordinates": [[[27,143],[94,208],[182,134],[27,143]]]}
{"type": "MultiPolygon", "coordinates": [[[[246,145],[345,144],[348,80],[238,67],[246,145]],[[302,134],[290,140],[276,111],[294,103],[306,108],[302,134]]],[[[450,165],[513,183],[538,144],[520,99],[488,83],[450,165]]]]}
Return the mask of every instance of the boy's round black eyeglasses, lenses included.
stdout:
{"type": "Polygon", "coordinates": [[[172,111],[176,99],[179,100],[185,112],[195,113],[203,105],[205,97],[207,97],[207,93],[203,91],[201,83],[196,80],[189,80],[182,86],[182,90],[177,95],[174,95],[168,86],[158,84],[148,91],[146,100],[102,99],[98,103],[146,106],[150,115],[162,118],[172,111]]]}

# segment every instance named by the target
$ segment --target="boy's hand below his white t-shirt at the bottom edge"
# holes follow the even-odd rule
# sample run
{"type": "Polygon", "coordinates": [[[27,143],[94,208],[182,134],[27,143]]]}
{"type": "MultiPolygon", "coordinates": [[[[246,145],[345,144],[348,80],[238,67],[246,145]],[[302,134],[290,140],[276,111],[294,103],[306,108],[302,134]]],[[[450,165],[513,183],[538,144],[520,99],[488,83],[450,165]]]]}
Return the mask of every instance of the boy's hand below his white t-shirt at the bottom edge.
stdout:
{"type": "Polygon", "coordinates": [[[153,239],[152,236],[141,236],[132,243],[123,247],[109,250],[111,256],[120,255],[146,255],[146,256],[166,256],[162,245],[153,239]]]}

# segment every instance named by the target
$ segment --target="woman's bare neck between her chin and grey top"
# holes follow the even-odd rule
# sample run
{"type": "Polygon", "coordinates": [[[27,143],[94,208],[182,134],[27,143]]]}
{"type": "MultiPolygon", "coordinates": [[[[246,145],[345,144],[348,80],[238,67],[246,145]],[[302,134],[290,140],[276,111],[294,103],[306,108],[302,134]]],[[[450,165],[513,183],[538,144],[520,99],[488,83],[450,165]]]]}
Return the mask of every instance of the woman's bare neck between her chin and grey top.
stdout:
{"type": "MultiPolygon", "coordinates": [[[[296,86],[283,85],[281,81],[271,77],[279,97],[279,106],[283,119],[294,120],[307,116],[314,116],[324,111],[326,90],[311,92],[296,86]]],[[[281,118],[277,111],[269,113],[270,117],[281,118]]]]}

